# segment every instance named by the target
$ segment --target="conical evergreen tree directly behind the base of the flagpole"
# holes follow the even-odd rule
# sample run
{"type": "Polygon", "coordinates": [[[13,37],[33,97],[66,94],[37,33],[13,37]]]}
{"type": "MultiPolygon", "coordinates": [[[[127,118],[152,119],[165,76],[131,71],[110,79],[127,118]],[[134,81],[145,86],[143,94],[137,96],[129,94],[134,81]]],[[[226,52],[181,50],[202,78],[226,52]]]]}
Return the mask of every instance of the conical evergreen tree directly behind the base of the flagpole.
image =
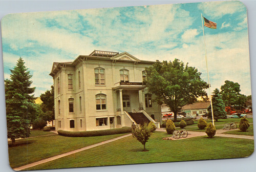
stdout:
{"type": "MultiPolygon", "coordinates": [[[[214,111],[214,119],[218,121],[218,119],[227,118],[227,113],[225,111],[225,104],[222,100],[222,96],[218,89],[214,90],[214,95],[211,98],[212,101],[212,109],[214,111]]],[[[208,107],[208,118],[212,119],[211,116],[211,106],[208,107]]]]}

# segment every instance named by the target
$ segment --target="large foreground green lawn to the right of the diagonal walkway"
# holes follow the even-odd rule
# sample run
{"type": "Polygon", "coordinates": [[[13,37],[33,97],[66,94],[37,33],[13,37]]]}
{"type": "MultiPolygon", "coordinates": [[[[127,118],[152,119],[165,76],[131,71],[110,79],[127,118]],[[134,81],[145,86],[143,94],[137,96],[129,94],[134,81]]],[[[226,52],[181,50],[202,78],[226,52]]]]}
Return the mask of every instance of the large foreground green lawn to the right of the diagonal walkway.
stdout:
{"type": "Polygon", "coordinates": [[[131,136],[26,170],[239,158],[251,155],[254,150],[250,139],[209,139],[207,136],[162,139],[168,136],[164,132],[155,132],[146,143],[148,152],[142,152],[143,145],[131,136]]]}

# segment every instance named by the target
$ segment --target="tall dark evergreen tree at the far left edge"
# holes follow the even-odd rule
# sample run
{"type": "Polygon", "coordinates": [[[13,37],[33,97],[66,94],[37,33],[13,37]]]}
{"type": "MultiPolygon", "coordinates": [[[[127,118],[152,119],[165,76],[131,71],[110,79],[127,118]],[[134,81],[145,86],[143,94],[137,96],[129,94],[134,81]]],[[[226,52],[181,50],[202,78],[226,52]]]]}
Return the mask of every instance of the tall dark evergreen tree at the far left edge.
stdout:
{"type": "Polygon", "coordinates": [[[30,134],[30,124],[36,118],[34,88],[30,88],[32,75],[20,57],[11,71],[10,80],[5,80],[7,136],[15,144],[16,138],[26,138],[30,134]]]}

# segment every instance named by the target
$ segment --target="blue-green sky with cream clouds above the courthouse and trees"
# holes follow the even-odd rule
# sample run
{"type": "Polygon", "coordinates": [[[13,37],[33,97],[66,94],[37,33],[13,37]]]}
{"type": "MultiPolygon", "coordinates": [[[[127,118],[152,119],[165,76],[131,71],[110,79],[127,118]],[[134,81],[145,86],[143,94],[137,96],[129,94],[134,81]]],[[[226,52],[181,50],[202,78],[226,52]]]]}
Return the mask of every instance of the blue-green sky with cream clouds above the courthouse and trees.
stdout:
{"type": "Polygon", "coordinates": [[[208,81],[201,13],[217,23],[204,28],[211,90],[231,80],[250,95],[247,13],[236,1],[9,14],[2,19],[4,75],[22,57],[40,96],[53,84],[54,61],[105,50],[142,60],[178,58],[208,81]]]}

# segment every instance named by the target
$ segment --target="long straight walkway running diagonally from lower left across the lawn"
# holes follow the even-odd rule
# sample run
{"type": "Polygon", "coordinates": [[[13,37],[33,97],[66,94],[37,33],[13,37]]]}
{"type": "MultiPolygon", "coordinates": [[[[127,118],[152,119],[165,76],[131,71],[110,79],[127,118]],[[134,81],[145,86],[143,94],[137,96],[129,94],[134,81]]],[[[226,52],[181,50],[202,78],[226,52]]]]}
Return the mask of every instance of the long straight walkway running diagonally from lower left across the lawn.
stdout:
{"type": "Polygon", "coordinates": [[[66,157],[68,155],[72,155],[72,154],[81,152],[83,150],[87,150],[87,149],[90,149],[90,148],[93,148],[93,147],[96,147],[96,146],[100,146],[100,145],[103,145],[103,144],[106,144],[106,143],[110,143],[110,142],[113,142],[113,141],[116,141],[116,140],[119,140],[119,139],[122,139],[122,138],[125,138],[125,137],[128,137],[128,136],[132,136],[132,134],[127,134],[127,135],[120,136],[120,137],[117,137],[117,138],[114,138],[114,139],[111,139],[111,140],[106,140],[106,141],[103,141],[103,142],[100,142],[100,143],[96,143],[96,144],[93,144],[93,145],[90,145],[90,146],[86,146],[86,147],[83,147],[83,148],[80,148],[80,149],[73,150],[73,151],[65,153],[65,154],[60,154],[60,155],[57,155],[57,156],[54,156],[54,157],[51,157],[51,158],[47,158],[47,159],[44,159],[44,160],[33,162],[31,164],[27,164],[27,165],[24,165],[24,166],[13,168],[13,169],[15,171],[24,170],[26,168],[30,168],[30,167],[33,167],[33,166],[36,166],[36,165],[39,165],[39,164],[42,164],[42,163],[53,161],[53,160],[56,160],[58,158],[66,157]]]}

